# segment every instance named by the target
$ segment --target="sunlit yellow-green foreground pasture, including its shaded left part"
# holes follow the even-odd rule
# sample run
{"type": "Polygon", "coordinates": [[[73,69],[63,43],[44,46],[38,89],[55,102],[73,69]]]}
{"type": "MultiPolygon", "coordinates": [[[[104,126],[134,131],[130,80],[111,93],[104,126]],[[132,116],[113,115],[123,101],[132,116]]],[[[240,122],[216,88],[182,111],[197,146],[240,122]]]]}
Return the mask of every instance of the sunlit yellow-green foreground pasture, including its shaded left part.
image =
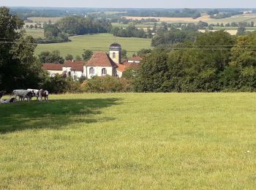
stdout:
{"type": "Polygon", "coordinates": [[[255,189],[256,94],[0,104],[0,189],[255,189]]]}

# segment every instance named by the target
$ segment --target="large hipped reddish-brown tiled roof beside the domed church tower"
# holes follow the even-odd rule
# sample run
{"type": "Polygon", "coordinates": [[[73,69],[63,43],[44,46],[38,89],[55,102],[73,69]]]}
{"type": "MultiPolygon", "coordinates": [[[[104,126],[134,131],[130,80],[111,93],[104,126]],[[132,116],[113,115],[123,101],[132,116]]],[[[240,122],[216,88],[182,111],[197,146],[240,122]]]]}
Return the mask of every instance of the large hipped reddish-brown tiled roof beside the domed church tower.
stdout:
{"type": "Polygon", "coordinates": [[[94,53],[86,66],[110,66],[116,68],[116,63],[105,52],[94,53]]]}

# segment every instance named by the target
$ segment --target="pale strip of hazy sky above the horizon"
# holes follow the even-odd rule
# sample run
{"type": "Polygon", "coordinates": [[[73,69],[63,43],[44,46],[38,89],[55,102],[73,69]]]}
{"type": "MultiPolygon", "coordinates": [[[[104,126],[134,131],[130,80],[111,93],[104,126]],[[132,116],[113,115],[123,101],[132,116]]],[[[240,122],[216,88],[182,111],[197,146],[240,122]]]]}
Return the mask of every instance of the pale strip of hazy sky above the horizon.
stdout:
{"type": "Polygon", "coordinates": [[[256,0],[0,0],[7,7],[256,8],[256,0]]]}

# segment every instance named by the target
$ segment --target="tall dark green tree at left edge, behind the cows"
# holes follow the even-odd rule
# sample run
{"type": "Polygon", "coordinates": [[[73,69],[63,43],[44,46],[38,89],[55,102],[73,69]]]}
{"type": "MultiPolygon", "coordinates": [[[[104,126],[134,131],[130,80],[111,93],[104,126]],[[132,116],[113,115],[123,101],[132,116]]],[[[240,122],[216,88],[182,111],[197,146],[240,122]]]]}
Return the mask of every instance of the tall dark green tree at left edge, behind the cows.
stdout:
{"type": "Polygon", "coordinates": [[[24,35],[23,24],[10,9],[0,7],[0,89],[38,88],[45,78],[34,56],[37,45],[24,35]]]}

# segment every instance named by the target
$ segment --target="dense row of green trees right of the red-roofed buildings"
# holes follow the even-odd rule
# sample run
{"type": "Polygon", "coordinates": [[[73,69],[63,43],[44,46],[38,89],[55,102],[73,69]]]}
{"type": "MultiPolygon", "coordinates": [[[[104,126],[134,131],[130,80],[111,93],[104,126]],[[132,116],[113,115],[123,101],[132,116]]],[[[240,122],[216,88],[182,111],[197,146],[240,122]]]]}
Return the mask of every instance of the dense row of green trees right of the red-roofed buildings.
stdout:
{"type": "Polygon", "coordinates": [[[256,32],[198,34],[171,50],[154,50],[134,81],[137,91],[256,91],[256,32]]]}

